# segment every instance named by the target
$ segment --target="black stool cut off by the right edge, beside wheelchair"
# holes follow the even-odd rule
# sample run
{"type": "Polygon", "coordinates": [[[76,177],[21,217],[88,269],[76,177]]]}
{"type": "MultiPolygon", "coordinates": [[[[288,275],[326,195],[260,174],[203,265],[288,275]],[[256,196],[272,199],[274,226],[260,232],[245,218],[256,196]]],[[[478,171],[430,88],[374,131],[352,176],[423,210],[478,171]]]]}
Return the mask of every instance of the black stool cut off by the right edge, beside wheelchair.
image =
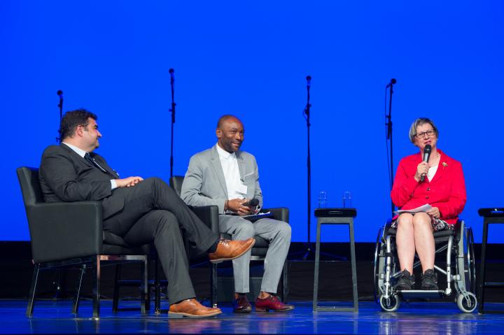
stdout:
{"type": "MultiPolygon", "coordinates": [[[[478,313],[484,313],[484,289],[485,287],[504,287],[504,282],[487,283],[485,281],[485,267],[486,267],[486,243],[488,241],[488,226],[492,223],[504,224],[504,208],[479,208],[479,216],[483,219],[483,241],[482,241],[482,256],[479,269],[479,290],[477,301],[479,302],[478,313]]],[[[493,311],[497,313],[504,313],[504,311],[493,311]]]]}

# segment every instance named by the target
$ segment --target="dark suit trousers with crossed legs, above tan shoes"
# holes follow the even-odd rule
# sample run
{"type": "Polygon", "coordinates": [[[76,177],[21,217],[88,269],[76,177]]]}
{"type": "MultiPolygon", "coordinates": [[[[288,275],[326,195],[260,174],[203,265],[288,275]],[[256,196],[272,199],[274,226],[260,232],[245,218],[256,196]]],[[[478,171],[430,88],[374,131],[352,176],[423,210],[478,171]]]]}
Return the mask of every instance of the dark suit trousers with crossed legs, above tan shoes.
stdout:
{"type": "Polygon", "coordinates": [[[104,230],[122,236],[131,245],[154,242],[167,277],[169,302],[195,297],[181,233],[198,252],[209,250],[218,236],[160,178],[118,188],[111,197],[116,192],[123,192],[125,206],[104,220],[104,230]]]}

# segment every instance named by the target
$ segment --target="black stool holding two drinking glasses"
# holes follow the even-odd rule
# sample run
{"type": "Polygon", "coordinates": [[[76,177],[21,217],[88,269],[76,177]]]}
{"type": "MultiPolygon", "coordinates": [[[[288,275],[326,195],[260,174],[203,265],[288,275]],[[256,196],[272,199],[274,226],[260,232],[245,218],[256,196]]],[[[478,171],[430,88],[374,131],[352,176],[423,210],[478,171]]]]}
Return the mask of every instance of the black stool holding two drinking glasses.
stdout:
{"type": "Polygon", "coordinates": [[[314,278],[314,312],[358,312],[357,294],[357,264],[355,255],[355,238],[353,236],[353,218],[357,216],[355,208],[317,208],[317,237],[315,249],[315,278],[314,278]],[[320,240],[322,224],[348,224],[350,232],[350,254],[352,267],[353,308],[337,306],[318,306],[318,264],[320,262],[320,240]]]}

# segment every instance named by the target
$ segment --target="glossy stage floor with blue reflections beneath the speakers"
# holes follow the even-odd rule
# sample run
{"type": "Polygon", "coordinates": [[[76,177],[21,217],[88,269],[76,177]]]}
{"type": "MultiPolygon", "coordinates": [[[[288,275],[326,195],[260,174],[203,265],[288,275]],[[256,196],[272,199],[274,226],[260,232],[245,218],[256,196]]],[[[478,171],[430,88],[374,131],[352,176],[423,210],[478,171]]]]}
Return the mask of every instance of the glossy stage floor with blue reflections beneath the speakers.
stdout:
{"type": "MultiPolygon", "coordinates": [[[[37,301],[33,318],[25,317],[25,300],[0,301],[0,333],[70,334],[504,334],[504,314],[461,313],[450,302],[402,303],[398,312],[385,313],[373,302],[361,302],[359,313],[312,313],[311,303],[294,303],[292,313],[237,315],[222,304],[223,314],[210,319],[141,315],[139,311],[111,313],[111,301],[102,301],[102,316],[91,316],[91,302],[83,301],[76,318],[71,301],[37,301]]],[[[138,306],[127,301],[123,307],[138,306]]],[[[487,307],[487,304],[485,304],[487,307]]],[[[488,304],[504,308],[504,304],[488,304]]]]}

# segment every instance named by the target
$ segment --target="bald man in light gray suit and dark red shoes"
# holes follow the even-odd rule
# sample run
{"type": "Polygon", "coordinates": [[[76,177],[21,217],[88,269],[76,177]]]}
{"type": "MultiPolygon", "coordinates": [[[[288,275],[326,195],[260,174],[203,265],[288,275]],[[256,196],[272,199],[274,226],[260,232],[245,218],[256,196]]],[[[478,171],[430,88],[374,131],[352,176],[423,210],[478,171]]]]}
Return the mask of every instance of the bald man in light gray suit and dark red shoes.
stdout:
{"type": "MultiPolygon", "coordinates": [[[[218,120],[216,135],[218,140],[214,147],[191,157],[181,197],[190,206],[218,206],[220,230],[230,234],[233,240],[259,235],[269,241],[255,311],[290,311],[294,306],[283,304],[274,295],[290,246],[290,225],[271,218],[254,222],[241,218],[262,208],[258,166],[253,155],[239,150],[244,141],[244,126],[237,117],[223,115],[218,120]],[[257,199],[258,205],[247,205],[251,199],[257,199]]],[[[237,313],[252,311],[246,298],[250,258],[248,251],[244,257],[233,260],[233,311],[237,313]]]]}

